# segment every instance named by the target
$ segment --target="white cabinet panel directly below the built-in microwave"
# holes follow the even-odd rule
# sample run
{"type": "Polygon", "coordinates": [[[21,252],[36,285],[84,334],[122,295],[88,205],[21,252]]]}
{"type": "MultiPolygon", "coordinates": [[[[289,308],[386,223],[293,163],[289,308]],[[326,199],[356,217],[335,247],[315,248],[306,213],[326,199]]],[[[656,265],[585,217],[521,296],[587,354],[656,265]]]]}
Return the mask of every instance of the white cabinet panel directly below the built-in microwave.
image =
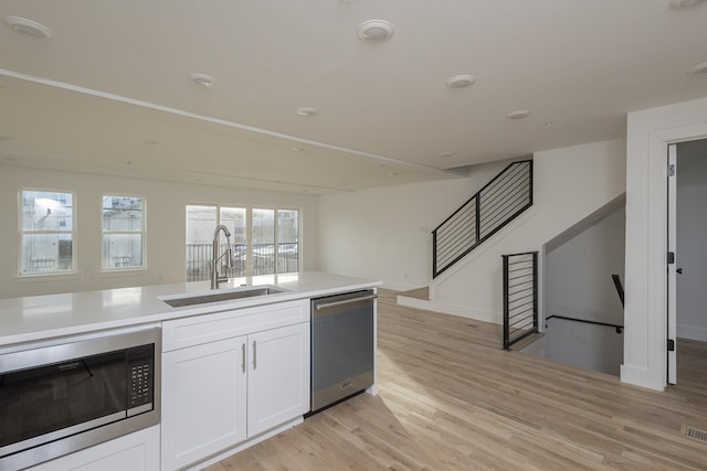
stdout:
{"type": "Polygon", "coordinates": [[[31,471],[158,470],[159,426],[105,441],[30,469],[31,471]]]}

